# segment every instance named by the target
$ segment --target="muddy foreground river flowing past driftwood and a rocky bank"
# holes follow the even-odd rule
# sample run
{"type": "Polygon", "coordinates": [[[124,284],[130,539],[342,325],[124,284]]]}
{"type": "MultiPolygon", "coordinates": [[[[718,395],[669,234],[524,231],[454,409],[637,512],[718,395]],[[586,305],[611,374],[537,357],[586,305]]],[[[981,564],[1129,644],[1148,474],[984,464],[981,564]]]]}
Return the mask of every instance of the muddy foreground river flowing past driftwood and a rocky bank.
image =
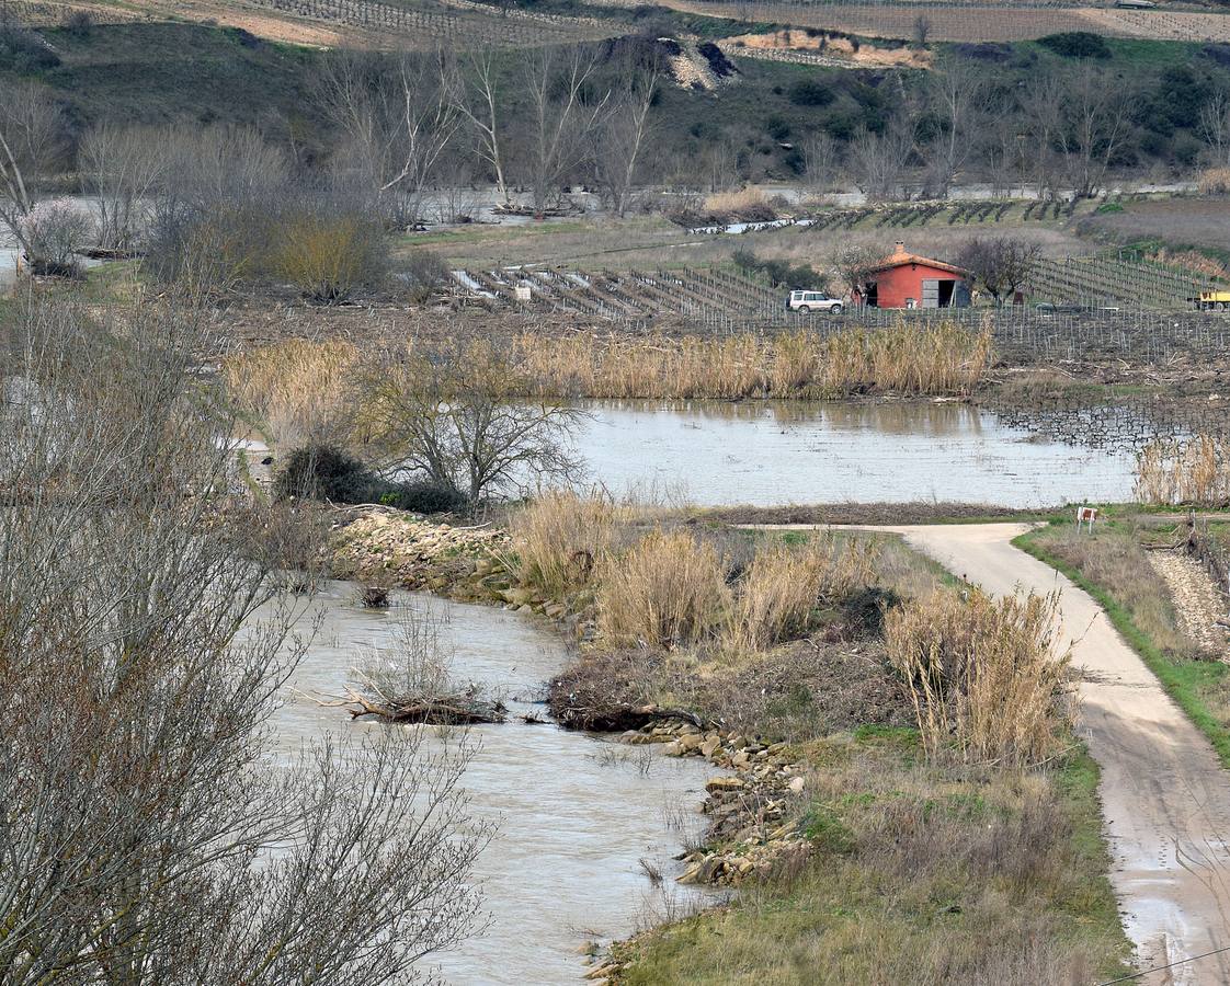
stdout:
{"type": "MultiPolygon", "coordinates": [[[[348,583],[331,583],[312,604],[323,622],[292,690],[339,693],[357,650],[391,644],[397,607],[427,606],[444,620],[455,677],[503,690],[514,714],[531,708],[545,714],[529,701],[565,661],[560,638],[545,622],[417,594],[395,595],[394,606],[380,612],[358,606],[354,593],[348,583]]],[[[290,691],[274,728],[289,757],[328,733],[387,727],[352,724],[344,711],[290,691]]],[[[433,956],[449,982],[578,982],[583,942],[626,936],[656,923],[654,915],[695,901],[700,891],[669,879],[679,873],[670,856],[702,824],[696,809],[713,767],[555,725],[510,720],[476,727],[472,735],[481,749],[464,786],[475,813],[499,825],[476,867],[491,923],[459,950],[433,956]],[[641,858],[668,874],[668,897],[654,890],[641,858]]]]}

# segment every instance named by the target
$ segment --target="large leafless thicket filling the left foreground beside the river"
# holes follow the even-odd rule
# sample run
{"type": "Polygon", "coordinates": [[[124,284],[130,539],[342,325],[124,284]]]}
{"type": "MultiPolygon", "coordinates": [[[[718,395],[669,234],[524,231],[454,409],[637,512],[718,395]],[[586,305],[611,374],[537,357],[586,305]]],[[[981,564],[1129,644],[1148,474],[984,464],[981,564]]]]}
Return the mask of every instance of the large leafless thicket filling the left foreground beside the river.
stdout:
{"type": "Polygon", "coordinates": [[[191,312],[59,306],[0,352],[7,986],[408,982],[478,918],[464,752],[268,745],[301,642],[215,353],[191,312]]]}

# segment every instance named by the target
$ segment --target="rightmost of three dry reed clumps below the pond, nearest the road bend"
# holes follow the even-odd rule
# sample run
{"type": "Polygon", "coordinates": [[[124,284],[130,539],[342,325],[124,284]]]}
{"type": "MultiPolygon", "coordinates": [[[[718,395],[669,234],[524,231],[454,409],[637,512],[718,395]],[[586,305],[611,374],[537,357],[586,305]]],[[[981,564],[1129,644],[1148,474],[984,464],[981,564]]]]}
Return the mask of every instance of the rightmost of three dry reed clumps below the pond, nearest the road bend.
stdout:
{"type": "Polygon", "coordinates": [[[835,537],[763,547],[737,585],[727,648],[760,652],[804,636],[814,626],[817,607],[873,582],[876,550],[872,541],[835,537]]]}

